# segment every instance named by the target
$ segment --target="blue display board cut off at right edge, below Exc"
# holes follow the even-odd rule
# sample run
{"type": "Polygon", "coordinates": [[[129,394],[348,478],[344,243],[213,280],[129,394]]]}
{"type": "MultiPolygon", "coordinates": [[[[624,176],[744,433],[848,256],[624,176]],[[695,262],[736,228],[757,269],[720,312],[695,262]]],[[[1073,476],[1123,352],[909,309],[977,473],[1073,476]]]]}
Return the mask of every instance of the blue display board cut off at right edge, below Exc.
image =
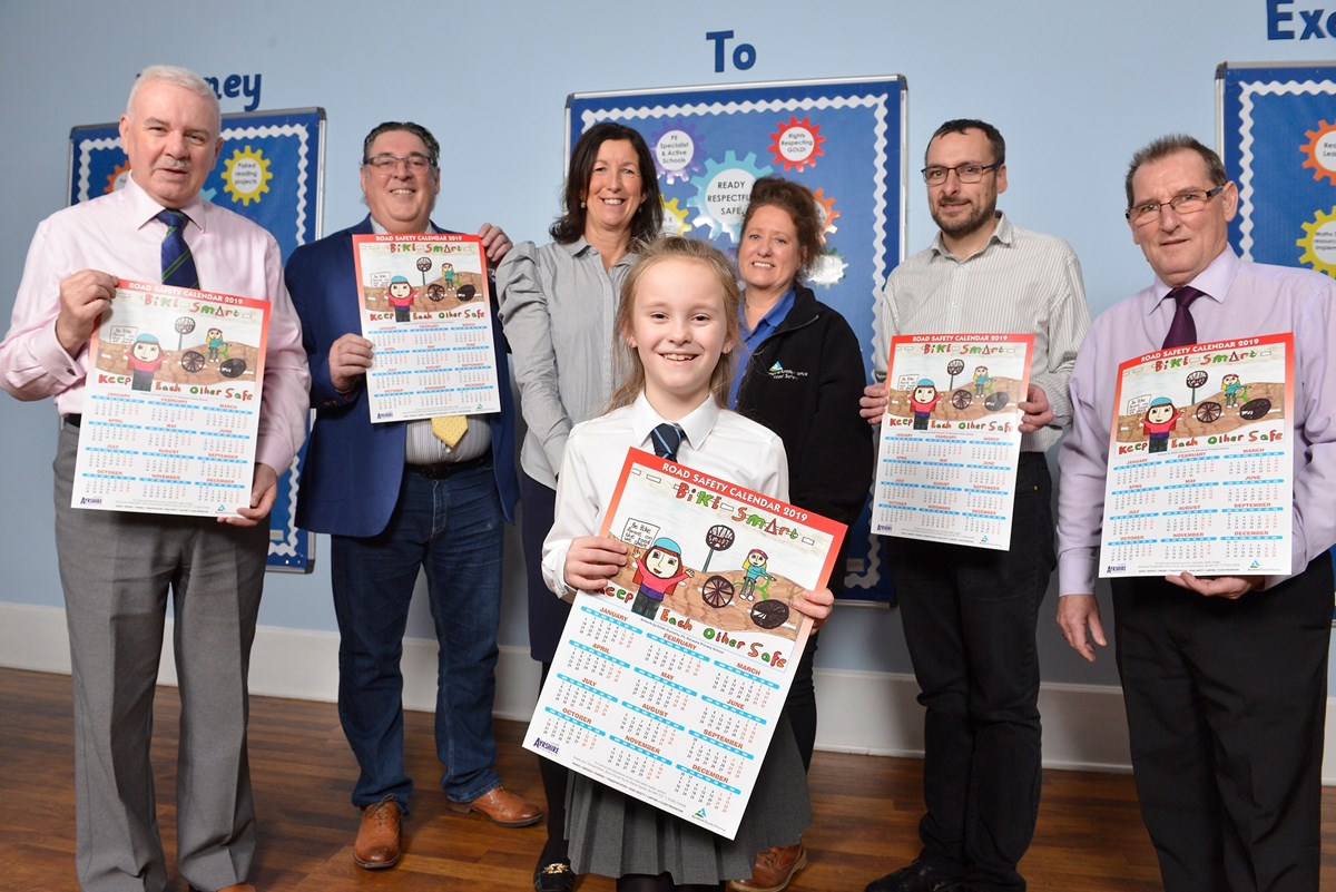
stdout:
{"type": "Polygon", "coordinates": [[[1336,278],[1336,64],[1225,63],[1216,99],[1234,251],[1336,278]]]}

